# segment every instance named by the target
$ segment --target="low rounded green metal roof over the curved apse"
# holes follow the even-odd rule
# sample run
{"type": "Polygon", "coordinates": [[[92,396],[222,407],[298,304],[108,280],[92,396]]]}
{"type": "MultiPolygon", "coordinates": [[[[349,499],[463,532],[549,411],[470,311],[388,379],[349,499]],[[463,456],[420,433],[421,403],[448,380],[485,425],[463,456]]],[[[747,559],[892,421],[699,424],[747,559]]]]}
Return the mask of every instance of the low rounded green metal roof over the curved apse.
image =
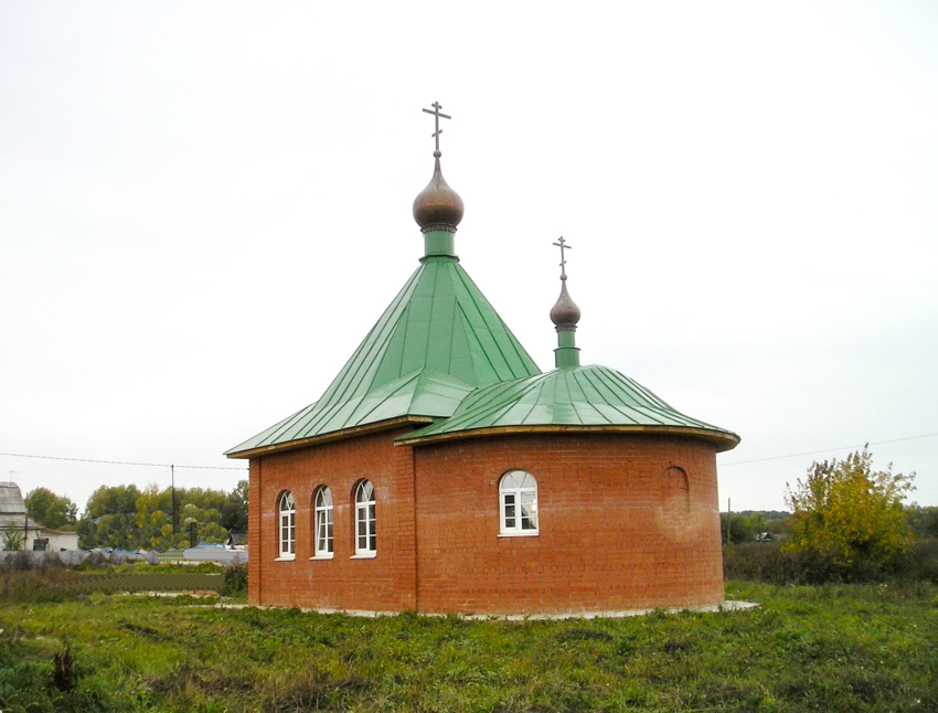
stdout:
{"type": "Polygon", "coordinates": [[[644,386],[606,366],[557,369],[488,385],[469,394],[451,417],[398,438],[429,440],[541,427],[590,430],[690,433],[717,443],[720,450],[739,437],[673,409],[644,386]]]}

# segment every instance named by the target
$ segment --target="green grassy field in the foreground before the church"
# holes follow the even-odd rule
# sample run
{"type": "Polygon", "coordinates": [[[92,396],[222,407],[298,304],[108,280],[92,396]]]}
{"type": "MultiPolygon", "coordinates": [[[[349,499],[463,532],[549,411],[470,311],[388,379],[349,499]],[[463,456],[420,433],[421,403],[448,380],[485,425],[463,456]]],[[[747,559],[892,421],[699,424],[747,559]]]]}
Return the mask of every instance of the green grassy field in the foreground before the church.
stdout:
{"type": "Polygon", "coordinates": [[[6,604],[0,710],[938,710],[937,586],[731,582],[727,598],[760,607],[507,622],[6,604]]]}

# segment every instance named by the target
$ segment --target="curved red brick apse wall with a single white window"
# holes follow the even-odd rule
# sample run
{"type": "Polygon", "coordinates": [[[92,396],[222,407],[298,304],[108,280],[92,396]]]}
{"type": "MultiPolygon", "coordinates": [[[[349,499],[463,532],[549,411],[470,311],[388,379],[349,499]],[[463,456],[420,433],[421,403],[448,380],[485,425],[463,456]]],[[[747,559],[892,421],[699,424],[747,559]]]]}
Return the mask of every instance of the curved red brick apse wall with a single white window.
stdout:
{"type": "Polygon", "coordinates": [[[723,600],[713,446],[532,434],[418,447],[415,464],[422,611],[609,611],[723,600]],[[537,536],[498,536],[499,479],[514,468],[537,479],[537,536]]]}

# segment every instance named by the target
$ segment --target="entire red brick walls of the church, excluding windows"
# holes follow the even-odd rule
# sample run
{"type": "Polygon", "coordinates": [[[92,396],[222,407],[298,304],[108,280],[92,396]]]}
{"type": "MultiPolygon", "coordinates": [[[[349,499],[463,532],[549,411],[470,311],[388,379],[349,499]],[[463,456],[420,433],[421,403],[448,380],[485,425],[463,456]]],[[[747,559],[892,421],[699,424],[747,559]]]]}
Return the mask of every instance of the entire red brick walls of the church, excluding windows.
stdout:
{"type": "Polygon", "coordinates": [[[532,434],[395,447],[408,430],[251,461],[253,604],[533,614],[723,600],[713,446],[532,434]],[[537,479],[537,536],[498,536],[499,479],[514,468],[537,479]],[[374,560],[350,558],[362,478],[376,493],[374,560]],[[310,561],[320,485],[332,490],[334,557],[310,561]],[[296,499],[296,558],[277,562],[285,489],[296,499]]]}

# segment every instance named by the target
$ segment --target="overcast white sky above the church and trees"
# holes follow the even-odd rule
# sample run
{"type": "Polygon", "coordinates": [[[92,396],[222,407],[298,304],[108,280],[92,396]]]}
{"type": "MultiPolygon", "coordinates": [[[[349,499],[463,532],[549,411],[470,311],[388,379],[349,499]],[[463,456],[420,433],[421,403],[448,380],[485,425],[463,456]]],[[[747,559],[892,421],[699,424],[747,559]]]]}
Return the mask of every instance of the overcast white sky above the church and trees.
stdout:
{"type": "Polygon", "coordinates": [[[938,504],[931,1],[0,0],[0,451],[246,466],[416,268],[434,100],[457,252],[542,369],[564,235],[583,362],[742,436],[722,509],[926,434],[871,450],[938,504]]]}

